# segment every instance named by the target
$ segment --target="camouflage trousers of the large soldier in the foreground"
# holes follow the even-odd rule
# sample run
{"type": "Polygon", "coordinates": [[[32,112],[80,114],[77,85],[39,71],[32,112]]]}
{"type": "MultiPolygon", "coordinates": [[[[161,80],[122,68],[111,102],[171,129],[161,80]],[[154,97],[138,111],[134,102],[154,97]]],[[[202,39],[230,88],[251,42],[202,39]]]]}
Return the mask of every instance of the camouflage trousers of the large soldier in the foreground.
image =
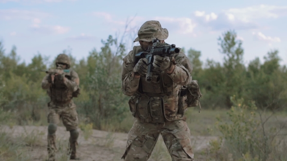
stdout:
{"type": "Polygon", "coordinates": [[[190,130],[184,120],[162,124],[143,123],[136,118],[128,133],[125,161],[147,161],[161,134],[172,161],[193,161],[190,130]]]}

